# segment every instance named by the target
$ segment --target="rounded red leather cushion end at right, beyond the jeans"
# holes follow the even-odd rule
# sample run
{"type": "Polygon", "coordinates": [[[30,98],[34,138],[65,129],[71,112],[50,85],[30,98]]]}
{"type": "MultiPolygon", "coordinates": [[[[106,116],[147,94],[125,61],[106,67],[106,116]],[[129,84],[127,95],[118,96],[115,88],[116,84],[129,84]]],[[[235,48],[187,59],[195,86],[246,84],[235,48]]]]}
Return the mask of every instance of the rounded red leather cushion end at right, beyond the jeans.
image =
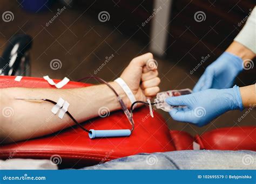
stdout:
{"type": "Polygon", "coordinates": [[[256,151],[256,126],[235,126],[208,131],[196,136],[201,149],[256,151]]]}

